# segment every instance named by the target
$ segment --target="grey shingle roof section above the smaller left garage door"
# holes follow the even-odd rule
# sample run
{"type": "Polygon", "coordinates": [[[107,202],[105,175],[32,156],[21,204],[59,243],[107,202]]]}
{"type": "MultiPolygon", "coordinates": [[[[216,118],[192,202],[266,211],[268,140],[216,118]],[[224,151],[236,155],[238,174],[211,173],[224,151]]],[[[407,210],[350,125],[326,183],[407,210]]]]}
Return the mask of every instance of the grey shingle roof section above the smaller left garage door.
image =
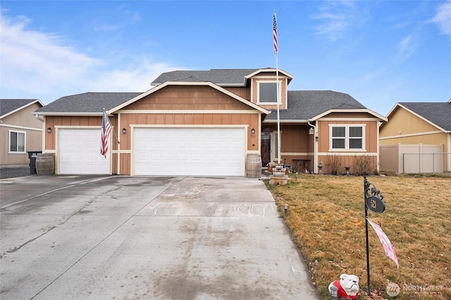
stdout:
{"type": "Polygon", "coordinates": [[[99,112],[109,110],[142,92],[85,92],[83,94],[61,97],[40,108],[37,112],[99,112]]]}

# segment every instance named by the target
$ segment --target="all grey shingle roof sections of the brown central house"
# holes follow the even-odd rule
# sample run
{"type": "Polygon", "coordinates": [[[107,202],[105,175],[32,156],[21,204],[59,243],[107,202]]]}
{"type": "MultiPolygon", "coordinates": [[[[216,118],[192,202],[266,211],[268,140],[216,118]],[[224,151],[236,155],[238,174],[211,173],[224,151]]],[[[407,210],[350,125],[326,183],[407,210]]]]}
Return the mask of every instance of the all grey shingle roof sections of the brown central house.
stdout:
{"type": "MultiPolygon", "coordinates": [[[[243,85],[246,76],[261,68],[226,68],[209,71],[171,71],[162,73],[152,84],[167,81],[211,82],[217,85],[243,85]]],[[[37,112],[55,113],[101,113],[102,109],[113,109],[124,102],[141,95],[141,92],[85,92],[61,97],[37,112]]],[[[288,109],[280,110],[280,119],[307,120],[330,109],[366,109],[348,94],[331,90],[292,90],[288,91],[288,109]]],[[[277,119],[270,114],[267,120],[277,119]]]]}

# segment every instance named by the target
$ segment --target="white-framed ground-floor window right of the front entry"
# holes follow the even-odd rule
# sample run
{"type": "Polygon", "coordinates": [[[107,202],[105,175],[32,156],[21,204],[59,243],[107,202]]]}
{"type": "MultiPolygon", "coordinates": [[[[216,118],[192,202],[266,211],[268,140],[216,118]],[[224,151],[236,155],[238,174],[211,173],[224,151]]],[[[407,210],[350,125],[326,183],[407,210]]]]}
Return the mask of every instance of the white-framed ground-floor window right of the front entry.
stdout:
{"type": "Polygon", "coordinates": [[[332,150],[364,150],[364,126],[331,126],[332,150]]]}

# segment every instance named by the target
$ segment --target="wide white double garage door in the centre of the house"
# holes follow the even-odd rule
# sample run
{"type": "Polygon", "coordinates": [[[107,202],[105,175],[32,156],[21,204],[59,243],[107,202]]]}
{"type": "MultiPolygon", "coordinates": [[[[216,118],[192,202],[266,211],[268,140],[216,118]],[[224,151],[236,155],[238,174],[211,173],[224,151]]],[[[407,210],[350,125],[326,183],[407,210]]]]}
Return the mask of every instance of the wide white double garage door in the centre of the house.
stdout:
{"type": "Polygon", "coordinates": [[[135,175],[245,175],[245,128],[135,128],[135,175]]]}

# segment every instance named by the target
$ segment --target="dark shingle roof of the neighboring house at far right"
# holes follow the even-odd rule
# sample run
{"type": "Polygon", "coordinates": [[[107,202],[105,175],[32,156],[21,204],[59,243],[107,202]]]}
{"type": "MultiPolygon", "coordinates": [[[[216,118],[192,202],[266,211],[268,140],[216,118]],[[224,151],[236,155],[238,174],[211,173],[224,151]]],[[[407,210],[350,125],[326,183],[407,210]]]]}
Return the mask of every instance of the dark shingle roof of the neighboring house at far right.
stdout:
{"type": "Polygon", "coordinates": [[[400,102],[400,104],[445,131],[451,131],[451,102],[400,102]]]}

